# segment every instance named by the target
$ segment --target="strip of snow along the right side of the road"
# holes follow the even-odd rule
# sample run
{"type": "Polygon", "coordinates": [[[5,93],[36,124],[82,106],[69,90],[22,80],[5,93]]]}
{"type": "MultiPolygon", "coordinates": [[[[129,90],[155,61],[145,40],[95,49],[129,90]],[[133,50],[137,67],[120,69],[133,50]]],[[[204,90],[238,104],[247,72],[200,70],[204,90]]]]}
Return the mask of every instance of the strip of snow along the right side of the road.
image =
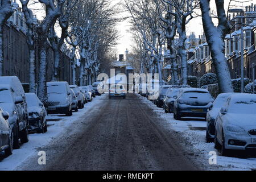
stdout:
{"type": "Polygon", "coordinates": [[[200,118],[184,118],[182,121],[176,121],[173,114],[164,113],[162,108],[156,107],[147,98],[140,97],[144,104],[151,107],[156,114],[165,119],[170,124],[170,129],[177,131],[187,140],[185,147],[192,148],[193,154],[199,164],[203,165],[203,168],[207,170],[256,170],[256,157],[247,157],[246,155],[235,154],[234,157],[220,156],[218,151],[214,149],[214,143],[205,142],[205,130],[207,123],[204,119],[200,118]],[[217,152],[217,165],[209,164],[209,152],[217,152]],[[237,158],[237,156],[239,158],[237,158]],[[198,156],[198,157],[197,157],[198,156]]]}

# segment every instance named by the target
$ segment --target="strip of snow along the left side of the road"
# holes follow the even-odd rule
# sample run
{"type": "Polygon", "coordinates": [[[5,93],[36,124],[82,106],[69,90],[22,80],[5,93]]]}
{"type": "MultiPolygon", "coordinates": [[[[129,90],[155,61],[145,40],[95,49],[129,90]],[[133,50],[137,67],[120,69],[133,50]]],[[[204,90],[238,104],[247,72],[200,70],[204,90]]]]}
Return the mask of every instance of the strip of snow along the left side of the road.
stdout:
{"type": "Polygon", "coordinates": [[[3,153],[0,154],[0,171],[14,170],[22,164],[24,160],[35,155],[36,148],[46,146],[53,139],[60,136],[65,129],[70,127],[79,118],[84,116],[90,109],[98,105],[102,100],[102,96],[97,96],[92,102],[85,104],[84,109],[80,109],[77,113],[73,112],[72,117],[65,117],[61,114],[50,114],[47,117],[48,131],[45,134],[30,134],[28,143],[22,144],[18,150],[13,150],[13,155],[5,158],[3,153]]]}

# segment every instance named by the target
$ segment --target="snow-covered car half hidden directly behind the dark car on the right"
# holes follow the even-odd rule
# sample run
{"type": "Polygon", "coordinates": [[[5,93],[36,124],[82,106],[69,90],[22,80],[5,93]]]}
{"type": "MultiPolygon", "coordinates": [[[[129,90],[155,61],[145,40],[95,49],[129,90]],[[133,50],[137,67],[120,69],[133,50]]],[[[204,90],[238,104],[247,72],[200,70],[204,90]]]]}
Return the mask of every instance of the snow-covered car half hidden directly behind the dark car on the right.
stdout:
{"type": "Polygon", "coordinates": [[[172,113],[174,111],[175,98],[180,92],[180,88],[169,88],[166,97],[164,98],[163,109],[166,113],[172,113]]]}

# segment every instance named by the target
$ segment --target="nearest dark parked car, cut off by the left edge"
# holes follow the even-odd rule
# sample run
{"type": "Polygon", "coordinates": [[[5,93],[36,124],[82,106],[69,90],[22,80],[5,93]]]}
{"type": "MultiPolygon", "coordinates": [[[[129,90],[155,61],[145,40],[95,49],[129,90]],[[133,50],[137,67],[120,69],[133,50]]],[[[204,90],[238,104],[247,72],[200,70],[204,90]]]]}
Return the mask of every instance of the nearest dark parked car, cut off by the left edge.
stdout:
{"type": "Polygon", "coordinates": [[[7,119],[9,113],[0,107],[0,152],[5,151],[5,155],[13,154],[13,132],[7,119]]]}

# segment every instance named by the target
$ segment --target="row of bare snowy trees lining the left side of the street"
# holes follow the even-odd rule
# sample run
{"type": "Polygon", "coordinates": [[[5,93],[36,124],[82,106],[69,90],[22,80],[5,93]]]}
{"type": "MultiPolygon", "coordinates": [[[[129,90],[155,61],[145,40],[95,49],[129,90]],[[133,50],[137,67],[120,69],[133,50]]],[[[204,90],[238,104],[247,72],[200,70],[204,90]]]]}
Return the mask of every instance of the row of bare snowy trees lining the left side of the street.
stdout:
{"type": "MultiPolygon", "coordinates": [[[[115,46],[118,32],[115,24],[118,11],[109,0],[20,0],[27,24],[27,44],[30,60],[30,92],[36,92],[35,49],[39,52],[38,96],[47,101],[47,51],[54,55],[52,81],[59,80],[63,48],[69,47],[72,61],[72,84],[77,82],[76,67],[80,67],[79,84],[88,85],[96,80],[102,62],[108,59],[115,46]],[[36,22],[29,4],[43,5],[43,20],[36,22]],[[57,36],[59,35],[59,36],[57,36]],[[35,45],[36,44],[36,45],[35,45]],[[77,63],[75,57],[79,57],[77,63]]],[[[0,76],[2,73],[3,25],[13,14],[10,0],[0,0],[0,76]]]]}

